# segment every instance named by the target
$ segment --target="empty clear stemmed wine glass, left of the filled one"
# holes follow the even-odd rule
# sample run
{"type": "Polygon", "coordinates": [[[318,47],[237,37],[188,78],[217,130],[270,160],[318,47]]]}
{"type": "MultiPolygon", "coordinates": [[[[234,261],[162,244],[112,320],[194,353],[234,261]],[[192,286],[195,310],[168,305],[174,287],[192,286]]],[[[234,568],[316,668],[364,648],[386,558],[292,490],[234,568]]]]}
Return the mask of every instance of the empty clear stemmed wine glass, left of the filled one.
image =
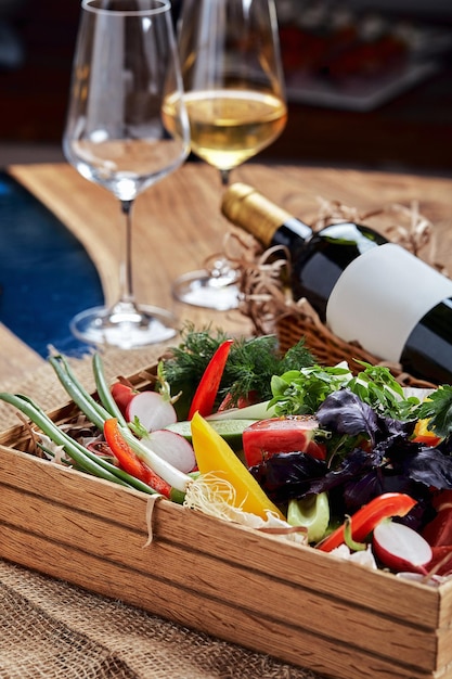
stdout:
{"type": "Polygon", "coordinates": [[[126,229],[118,302],[77,315],[73,333],[126,349],[173,336],[171,313],[137,304],[131,252],[137,196],[176,170],[190,151],[168,0],[82,1],[63,149],[82,177],[119,201],[126,229]],[[170,131],[162,115],[168,92],[175,106],[170,131]]]}

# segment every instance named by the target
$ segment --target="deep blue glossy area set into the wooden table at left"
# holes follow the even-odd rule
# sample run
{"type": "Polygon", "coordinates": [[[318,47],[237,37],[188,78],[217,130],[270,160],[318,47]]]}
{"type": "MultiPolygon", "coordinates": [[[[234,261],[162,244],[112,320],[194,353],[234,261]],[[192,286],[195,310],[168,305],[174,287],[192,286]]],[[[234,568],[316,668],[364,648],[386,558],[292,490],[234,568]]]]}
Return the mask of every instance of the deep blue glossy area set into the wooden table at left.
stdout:
{"type": "Polygon", "coordinates": [[[70,319],[102,304],[98,271],[79,241],[0,172],[0,322],[43,358],[49,345],[77,356],[87,347],[72,335],[70,319]]]}

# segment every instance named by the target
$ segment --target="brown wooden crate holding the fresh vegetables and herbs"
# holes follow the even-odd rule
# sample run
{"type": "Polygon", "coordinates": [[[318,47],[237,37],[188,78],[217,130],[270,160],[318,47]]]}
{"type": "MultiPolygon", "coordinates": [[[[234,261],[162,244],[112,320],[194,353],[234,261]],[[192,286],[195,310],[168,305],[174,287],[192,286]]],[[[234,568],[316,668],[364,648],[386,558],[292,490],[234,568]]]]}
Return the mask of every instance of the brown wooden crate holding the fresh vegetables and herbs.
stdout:
{"type": "MultiPolygon", "coordinates": [[[[137,381],[135,381],[137,382],[137,381]]],[[[56,422],[74,406],[52,413],[56,422]]],[[[340,679],[452,679],[452,582],[430,588],[56,467],[0,435],[0,556],[340,679]]]]}

